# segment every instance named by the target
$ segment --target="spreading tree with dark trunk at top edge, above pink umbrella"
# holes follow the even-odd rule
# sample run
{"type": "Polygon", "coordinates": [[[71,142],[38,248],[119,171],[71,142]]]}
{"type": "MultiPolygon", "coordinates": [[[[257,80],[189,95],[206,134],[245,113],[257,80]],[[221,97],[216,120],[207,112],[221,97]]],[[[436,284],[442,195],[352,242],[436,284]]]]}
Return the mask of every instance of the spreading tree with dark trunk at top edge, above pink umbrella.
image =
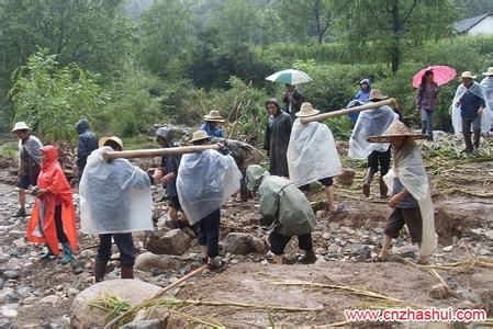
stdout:
{"type": "MultiPolygon", "coordinates": [[[[341,1],[341,0],[339,0],[341,1]]],[[[403,48],[449,35],[455,21],[451,0],[354,0],[341,9],[349,47],[383,50],[392,71],[399,69],[403,48]]]]}

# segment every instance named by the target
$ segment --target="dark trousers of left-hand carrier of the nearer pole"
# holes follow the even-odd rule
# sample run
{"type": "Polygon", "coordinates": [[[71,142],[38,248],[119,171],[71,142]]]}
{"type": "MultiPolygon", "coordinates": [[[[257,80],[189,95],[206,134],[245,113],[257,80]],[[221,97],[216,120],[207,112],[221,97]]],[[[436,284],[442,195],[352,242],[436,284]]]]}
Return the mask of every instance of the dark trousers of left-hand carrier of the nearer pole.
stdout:
{"type": "Polygon", "coordinates": [[[107,263],[111,259],[111,238],[120,251],[120,264],[133,268],[135,264],[135,247],[132,234],[107,234],[99,235],[97,260],[107,263]]]}

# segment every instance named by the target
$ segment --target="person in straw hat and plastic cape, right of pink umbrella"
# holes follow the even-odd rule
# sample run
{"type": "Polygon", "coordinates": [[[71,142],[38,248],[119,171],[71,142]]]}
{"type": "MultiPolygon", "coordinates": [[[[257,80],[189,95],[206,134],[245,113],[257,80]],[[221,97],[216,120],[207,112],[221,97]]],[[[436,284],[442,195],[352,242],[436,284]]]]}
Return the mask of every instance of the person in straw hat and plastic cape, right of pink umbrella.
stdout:
{"type": "Polygon", "coordinates": [[[475,76],[470,71],[462,72],[462,83],[457,88],[452,101],[453,131],[457,135],[463,135],[466,148],[462,152],[467,155],[479,150],[481,132],[488,134],[491,128],[491,113],[483,111],[486,107],[483,89],[474,79],[475,76]]]}

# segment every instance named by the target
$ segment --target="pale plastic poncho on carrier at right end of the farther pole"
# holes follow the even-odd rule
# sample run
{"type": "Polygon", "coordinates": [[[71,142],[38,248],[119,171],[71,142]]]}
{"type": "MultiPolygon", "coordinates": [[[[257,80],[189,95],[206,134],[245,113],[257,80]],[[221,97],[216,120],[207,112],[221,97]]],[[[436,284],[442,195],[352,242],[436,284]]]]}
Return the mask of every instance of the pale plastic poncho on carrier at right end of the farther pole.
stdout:
{"type": "Polygon", "coordinates": [[[365,159],[374,150],[386,151],[389,143],[370,143],[368,138],[383,135],[395,120],[399,120],[399,115],[390,106],[360,112],[349,139],[349,157],[365,159]]]}

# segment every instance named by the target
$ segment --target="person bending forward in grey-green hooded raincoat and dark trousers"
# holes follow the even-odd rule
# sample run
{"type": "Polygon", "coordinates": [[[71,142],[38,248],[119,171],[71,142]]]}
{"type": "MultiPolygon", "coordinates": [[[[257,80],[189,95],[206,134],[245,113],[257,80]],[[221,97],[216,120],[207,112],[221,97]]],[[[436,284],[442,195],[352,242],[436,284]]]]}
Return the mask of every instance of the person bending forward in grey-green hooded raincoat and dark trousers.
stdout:
{"type": "Polygon", "coordinates": [[[304,251],[298,261],[316,262],[312,242],[316,218],[306,196],[291,181],[271,175],[258,164],[248,166],[246,175],[248,190],[258,191],[260,196],[260,225],[273,226],[269,243],[274,263],[290,263],[284,259],[284,249],[293,236],[304,251]]]}

